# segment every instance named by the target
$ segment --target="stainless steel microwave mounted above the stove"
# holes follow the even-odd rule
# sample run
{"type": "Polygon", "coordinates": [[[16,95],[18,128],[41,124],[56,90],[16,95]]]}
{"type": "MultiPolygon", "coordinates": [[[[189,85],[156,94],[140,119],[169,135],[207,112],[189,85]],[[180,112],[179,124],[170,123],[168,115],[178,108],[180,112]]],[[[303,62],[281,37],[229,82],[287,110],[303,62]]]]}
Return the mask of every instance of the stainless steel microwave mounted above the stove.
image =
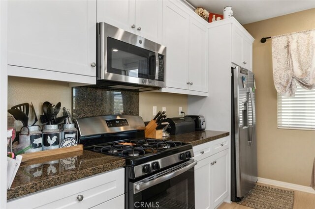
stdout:
{"type": "Polygon", "coordinates": [[[145,91],[166,87],[166,47],[97,23],[97,85],[145,91]]]}

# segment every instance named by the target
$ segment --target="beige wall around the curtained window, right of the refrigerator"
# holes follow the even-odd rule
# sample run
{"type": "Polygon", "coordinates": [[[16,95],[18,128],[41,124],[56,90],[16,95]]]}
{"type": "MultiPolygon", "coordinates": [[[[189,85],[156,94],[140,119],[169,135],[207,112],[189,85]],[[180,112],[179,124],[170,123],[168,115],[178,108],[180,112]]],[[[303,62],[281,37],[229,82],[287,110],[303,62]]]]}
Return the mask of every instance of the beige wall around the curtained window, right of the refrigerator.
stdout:
{"type": "Polygon", "coordinates": [[[273,83],[271,39],[315,28],[315,9],[244,26],[255,38],[253,72],[256,78],[258,177],[309,186],[315,157],[315,131],[277,129],[277,92],[273,83]]]}

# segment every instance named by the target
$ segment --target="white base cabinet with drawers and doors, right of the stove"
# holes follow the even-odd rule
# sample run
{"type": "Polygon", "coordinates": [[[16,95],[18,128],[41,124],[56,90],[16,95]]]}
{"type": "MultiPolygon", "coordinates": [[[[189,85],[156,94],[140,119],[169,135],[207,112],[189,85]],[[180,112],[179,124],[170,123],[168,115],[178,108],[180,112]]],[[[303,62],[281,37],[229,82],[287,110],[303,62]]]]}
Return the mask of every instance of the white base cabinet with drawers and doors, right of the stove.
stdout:
{"type": "Polygon", "coordinates": [[[214,209],[228,197],[229,137],[193,147],[195,208],[214,209]],[[219,146],[218,146],[219,145],[219,146]]]}

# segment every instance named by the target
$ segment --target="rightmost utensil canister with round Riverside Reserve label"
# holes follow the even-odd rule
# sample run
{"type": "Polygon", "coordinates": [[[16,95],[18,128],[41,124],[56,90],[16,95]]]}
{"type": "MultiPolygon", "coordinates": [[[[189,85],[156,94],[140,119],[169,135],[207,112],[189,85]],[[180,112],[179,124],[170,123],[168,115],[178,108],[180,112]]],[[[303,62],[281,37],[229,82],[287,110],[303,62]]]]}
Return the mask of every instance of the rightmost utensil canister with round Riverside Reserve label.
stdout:
{"type": "Polygon", "coordinates": [[[72,124],[63,124],[60,147],[72,147],[78,145],[78,130],[72,124]]]}

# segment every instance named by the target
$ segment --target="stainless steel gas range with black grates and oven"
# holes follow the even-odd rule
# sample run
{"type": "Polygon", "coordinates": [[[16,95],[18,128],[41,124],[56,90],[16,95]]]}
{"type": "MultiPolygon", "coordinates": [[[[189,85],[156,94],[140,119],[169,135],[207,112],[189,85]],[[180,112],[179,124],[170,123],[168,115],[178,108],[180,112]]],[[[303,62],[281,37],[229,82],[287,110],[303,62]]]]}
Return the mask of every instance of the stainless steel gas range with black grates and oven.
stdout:
{"type": "Polygon", "coordinates": [[[192,146],[144,137],[141,117],[75,120],[84,149],[126,159],[125,208],[194,209],[192,146]]]}

